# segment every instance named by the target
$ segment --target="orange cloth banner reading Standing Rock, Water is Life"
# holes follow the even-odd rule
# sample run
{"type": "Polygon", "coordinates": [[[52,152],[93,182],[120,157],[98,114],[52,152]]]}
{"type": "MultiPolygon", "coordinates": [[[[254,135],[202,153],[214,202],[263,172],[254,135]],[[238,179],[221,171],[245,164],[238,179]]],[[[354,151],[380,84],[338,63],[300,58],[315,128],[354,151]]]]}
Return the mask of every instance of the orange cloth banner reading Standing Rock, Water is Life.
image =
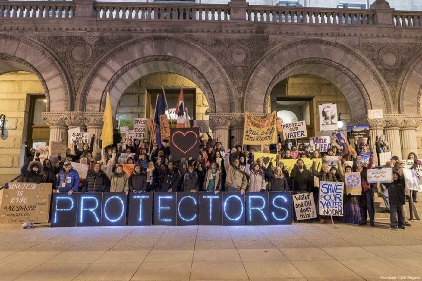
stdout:
{"type": "Polygon", "coordinates": [[[245,113],[243,127],[243,144],[271,144],[277,143],[276,111],[267,118],[258,119],[249,112],[245,113]]]}

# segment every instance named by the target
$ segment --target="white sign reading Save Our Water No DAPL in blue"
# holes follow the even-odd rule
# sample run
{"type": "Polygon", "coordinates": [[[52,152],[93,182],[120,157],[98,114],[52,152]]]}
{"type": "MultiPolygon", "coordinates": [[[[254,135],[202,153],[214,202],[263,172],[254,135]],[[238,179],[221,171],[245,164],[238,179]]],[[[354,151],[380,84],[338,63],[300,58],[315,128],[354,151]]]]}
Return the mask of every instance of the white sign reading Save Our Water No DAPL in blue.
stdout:
{"type": "Polygon", "coordinates": [[[319,182],[319,215],[343,216],[343,189],[342,182],[319,182]]]}

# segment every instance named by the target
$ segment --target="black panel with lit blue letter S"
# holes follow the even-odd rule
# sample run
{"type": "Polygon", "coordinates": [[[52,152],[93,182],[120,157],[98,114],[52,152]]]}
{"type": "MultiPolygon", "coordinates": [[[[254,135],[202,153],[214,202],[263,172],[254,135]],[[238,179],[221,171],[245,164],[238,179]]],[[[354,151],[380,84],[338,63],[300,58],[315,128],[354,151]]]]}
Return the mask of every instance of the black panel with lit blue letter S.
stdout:
{"type": "Polygon", "coordinates": [[[268,192],[270,224],[292,224],[292,194],[268,192]]]}

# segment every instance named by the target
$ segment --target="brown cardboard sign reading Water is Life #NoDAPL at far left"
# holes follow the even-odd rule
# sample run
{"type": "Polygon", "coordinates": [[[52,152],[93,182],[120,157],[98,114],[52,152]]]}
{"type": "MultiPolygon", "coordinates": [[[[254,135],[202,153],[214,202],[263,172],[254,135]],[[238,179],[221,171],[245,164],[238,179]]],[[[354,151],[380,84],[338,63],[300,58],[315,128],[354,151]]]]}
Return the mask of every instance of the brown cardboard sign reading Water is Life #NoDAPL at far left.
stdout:
{"type": "Polygon", "coordinates": [[[11,182],[3,189],[0,224],[48,222],[51,183],[11,182]]]}

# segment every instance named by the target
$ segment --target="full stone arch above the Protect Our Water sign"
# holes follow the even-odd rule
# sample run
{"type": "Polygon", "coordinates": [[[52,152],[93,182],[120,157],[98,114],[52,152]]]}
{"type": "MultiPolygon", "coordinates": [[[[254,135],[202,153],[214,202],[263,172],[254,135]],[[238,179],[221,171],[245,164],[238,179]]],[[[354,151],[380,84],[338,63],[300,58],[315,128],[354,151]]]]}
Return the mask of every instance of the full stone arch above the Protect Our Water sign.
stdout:
{"type": "Polygon", "coordinates": [[[385,82],[372,63],[344,45],[320,39],[293,41],[269,51],[246,84],[244,109],[266,113],[273,87],[299,74],[316,75],[337,86],[353,106],[352,119],[362,118],[371,108],[392,111],[385,82]]]}

